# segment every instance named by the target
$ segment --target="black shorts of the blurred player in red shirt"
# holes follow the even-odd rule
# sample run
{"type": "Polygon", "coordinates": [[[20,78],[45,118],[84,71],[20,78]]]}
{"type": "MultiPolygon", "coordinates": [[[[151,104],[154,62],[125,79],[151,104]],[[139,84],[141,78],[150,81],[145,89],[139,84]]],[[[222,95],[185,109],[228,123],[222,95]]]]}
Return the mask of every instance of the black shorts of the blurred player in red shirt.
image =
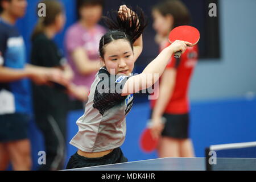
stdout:
{"type": "Polygon", "coordinates": [[[164,129],[162,131],[163,137],[172,137],[177,139],[189,138],[189,113],[164,113],[163,117],[166,118],[166,124],[164,125],[164,129]]]}

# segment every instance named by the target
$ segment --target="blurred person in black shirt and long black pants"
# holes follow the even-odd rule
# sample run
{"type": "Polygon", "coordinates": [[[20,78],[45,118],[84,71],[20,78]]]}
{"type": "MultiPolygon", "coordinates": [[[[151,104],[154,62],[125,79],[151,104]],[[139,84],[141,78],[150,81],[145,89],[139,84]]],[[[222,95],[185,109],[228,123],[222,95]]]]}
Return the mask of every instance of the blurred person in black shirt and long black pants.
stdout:
{"type": "MultiPolygon", "coordinates": [[[[31,63],[38,66],[57,68],[63,74],[62,86],[32,85],[35,121],[44,137],[46,147],[46,164],[40,170],[63,169],[65,160],[65,141],[68,113],[68,95],[85,101],[87,90],[69,84],[73,72],[53,38],[65,24],[63,5],[57,0],[42,1],[46,5],[45,17],[40,17],[32,33],[31,63]]],[[[54,81],[54,80],[53,80],[54,81]]]]}

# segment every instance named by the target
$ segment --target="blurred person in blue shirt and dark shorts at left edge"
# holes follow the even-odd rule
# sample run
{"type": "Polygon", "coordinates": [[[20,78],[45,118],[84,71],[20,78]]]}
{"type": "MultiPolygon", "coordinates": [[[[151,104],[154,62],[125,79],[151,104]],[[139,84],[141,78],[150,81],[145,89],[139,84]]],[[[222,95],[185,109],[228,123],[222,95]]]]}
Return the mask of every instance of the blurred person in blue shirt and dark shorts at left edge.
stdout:
{"type": "MultiPolygon", "coordinates": [[[[26,0],[0,1],[0,170],[30,170],[28,139],[30,92],[28,80],[46,84],[58,72],[26,64],[24,40],[15,27],[26,13],[26,0]]],[[[57,81],[57,80],[56,80],[57,81]]]]}

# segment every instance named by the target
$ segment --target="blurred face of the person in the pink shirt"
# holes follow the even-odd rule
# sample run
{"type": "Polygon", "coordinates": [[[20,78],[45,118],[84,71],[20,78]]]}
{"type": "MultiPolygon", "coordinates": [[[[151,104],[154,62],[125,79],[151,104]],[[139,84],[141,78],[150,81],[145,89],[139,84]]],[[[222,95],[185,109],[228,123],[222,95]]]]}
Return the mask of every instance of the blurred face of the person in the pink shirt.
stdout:
{"type": "Polygon", "coordinates": [[[81,19],[89,24],[96,24],[101,19],[102,6],[101,5],[88,5],[81,7],[80,11],[81,19]]]}

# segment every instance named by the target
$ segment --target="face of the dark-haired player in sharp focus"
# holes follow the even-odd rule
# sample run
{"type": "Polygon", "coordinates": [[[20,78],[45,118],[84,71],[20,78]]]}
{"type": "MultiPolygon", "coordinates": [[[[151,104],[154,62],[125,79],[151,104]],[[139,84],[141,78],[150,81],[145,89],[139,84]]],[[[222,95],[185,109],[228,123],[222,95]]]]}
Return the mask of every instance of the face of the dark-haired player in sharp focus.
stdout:
{"type": "Polygon", "coordinates": [[[110,74],[114,69],[115,75],[126,75],[133,72],[134,55],[130,43],[125,39],[110,42],[104,48],[104,64],[110,74]]]}

